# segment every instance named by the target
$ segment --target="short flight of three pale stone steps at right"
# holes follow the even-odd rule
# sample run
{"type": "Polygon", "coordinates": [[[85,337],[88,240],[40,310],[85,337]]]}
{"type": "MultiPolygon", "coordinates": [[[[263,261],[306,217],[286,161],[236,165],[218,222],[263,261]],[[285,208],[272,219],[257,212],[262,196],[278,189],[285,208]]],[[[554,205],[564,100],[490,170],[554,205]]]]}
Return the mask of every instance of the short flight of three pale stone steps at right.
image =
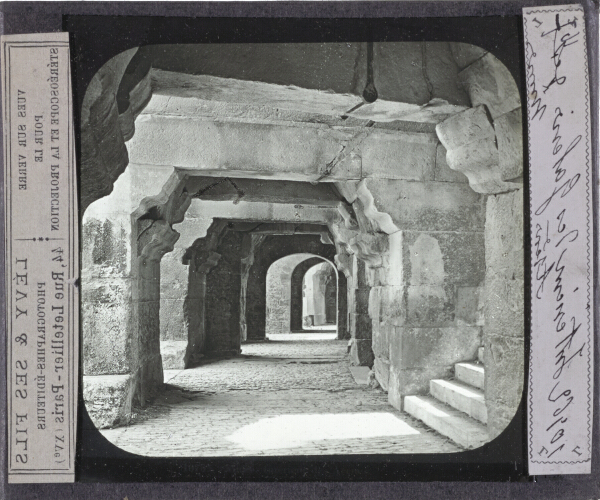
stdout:
{"type": "Polygon", "coordinates": [[[483,348],[480,348],[476,361],[454,365],[453,380],[431,380],[428,396],[406,396],[404,411],[463,448],[478,448],[487,443],[482,360],[483,348]]]}

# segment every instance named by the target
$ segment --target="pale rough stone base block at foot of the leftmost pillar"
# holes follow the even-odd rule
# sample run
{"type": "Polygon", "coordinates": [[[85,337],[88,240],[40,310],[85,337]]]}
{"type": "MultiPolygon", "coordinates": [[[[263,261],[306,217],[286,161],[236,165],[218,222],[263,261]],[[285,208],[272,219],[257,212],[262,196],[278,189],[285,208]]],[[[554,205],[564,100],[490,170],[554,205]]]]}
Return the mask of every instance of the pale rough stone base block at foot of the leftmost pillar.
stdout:
{"type": "Polygon", "coordinates": [[[129,423],[133,398],[133,381],[129,375],[83,377],[83,401],[98,429],[129,423]]]}

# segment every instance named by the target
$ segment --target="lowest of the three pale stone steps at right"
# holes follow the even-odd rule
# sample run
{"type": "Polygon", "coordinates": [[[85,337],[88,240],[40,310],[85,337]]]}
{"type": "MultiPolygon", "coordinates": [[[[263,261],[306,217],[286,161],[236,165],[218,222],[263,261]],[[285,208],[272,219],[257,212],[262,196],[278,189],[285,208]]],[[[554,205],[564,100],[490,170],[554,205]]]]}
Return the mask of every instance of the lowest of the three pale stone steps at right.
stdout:
{"type": "Polygon", "coordinates": [[[485,425],[432,396],[406,396],[404,411],[463,448],[479,448],[489,441],[485,425]]]}

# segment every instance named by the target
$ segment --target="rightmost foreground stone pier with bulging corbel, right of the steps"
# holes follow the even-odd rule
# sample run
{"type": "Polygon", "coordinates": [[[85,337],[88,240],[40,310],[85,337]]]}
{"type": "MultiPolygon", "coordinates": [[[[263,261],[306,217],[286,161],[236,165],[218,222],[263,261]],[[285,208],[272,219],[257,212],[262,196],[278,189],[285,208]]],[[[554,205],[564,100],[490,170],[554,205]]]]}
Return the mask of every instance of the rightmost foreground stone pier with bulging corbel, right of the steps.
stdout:
{"type": "Polygon", "coordinates": [[[451,44],[472,109],[438,125],[448,162],[487,195],[483,327],[490,438],[512,420],[524,377],[523,130],[519,90],[492,54],[451,44]],[[450,126],[448,126],[450,125],[450,126]]]}

